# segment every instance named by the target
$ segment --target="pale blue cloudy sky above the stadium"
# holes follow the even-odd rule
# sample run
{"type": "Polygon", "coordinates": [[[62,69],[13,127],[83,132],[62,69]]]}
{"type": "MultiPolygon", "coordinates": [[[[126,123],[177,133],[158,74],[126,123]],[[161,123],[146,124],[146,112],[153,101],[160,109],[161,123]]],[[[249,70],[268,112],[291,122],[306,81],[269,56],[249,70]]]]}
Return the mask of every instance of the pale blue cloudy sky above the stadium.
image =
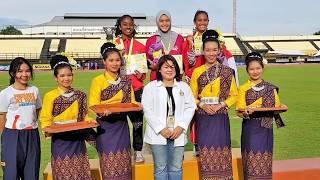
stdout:
{"type": "MultiPolygon", "coordinates": [[[[319,0],[237,0],[240,35],[310,35],[320,30],[319,0]]],[[[193,25],[196,10],[209,13],[209,28],[232,32],[232,0],[1,0],[0,26],[36,25],[64,13],[144,13],[168,10],[172,23],[193,25]]]]}

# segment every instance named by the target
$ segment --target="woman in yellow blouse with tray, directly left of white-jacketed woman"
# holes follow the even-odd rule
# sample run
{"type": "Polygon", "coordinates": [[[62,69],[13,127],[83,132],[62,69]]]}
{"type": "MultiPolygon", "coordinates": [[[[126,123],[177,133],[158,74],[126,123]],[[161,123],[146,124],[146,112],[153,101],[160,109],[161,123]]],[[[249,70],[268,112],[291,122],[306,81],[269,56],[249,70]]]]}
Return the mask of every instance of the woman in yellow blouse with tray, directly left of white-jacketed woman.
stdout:
{"type": "MultiPolygon", "coordinates": [[[[129,76],[120,74],[121,56],[114,44],[102,45],[105,72],[92,80],[89,105],[136,103],[129,76]]],[[[142,109],[142,108],[141,108],[142,109]]],[[[126,113],[98,114],[97,151],[103,179],[131,179],[130,135],[126,113]]]]}

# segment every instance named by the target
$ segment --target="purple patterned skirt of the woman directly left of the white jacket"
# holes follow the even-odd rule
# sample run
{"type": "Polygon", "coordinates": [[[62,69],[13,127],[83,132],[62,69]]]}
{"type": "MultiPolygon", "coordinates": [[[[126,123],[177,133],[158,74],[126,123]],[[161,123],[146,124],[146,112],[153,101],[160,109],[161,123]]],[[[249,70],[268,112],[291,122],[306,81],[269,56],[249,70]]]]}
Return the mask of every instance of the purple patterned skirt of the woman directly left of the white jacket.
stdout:
{"type": "Polygon", "coordinates": [[[104,180],[131,179],[130,134],[125,114],[97,119],[97,151],[104,180]]]}

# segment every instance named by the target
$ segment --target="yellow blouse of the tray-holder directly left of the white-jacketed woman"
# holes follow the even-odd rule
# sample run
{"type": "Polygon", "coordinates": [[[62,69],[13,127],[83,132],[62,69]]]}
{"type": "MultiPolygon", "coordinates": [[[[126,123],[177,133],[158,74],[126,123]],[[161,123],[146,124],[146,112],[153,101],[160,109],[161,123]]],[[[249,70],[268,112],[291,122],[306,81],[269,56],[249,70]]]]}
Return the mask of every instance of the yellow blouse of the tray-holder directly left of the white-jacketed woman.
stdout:
{"type": "MultiPolygon", "coordinates": [[[[108,81],[115,81],[115,78],[108,73],[101,74],[92,80],[89,95],[89,106],[97,104],[112,104],[121,103],[124,92],[123,90],[118,91],[113,97],[105,101],[101,100],[101,92],[111,85],[108,81]]],[[[131,86],[131,103],[137,103],[134,97],[134,91],[131,86]]]]}

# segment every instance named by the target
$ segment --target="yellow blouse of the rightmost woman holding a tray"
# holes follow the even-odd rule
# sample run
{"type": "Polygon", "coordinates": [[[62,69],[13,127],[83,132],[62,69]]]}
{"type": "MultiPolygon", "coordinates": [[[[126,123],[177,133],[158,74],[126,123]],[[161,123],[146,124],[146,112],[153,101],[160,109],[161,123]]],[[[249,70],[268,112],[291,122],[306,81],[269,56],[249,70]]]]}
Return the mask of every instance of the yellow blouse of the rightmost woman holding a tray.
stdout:
{"type": "MultiPolygon", "coordinates": [[[[252,87],[256,86],[256,83],[248,80],[246,83],[240,86],[239,88],[239,96],[236,103],[236,109],[245,109],[247,107],[261,107],[262,106],[262,97],[257,99],[252,104],[246,104],[246,92],[252,87]]],[[[275,98],[275,107],[279,107],[281,105],[280,98],[277,93],[277,90],[274,89],[274,98],[275,98]]]]}

